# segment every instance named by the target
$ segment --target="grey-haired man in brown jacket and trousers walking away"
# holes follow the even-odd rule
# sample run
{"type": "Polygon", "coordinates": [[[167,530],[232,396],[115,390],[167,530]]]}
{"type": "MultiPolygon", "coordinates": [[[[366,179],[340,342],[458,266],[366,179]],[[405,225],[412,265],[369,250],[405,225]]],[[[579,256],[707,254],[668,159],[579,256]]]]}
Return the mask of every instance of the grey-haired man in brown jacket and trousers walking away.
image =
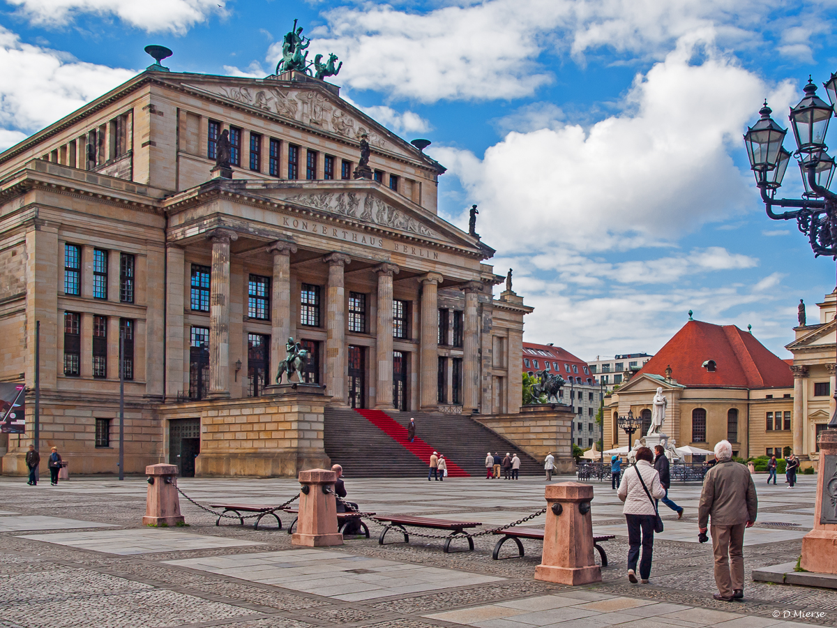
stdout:
{"type": "Polygon", "coordinates": [[[716,465],[703,480],[697,527],[706,538],[707,520],[711,519],[718,587],[712,597],[731,602],[744,597],[744,528],[752,528],[756,522],[758,497],[750,471],[732,460],[732,445],[728,440],[715,445],[715,460],[716,465]]]}

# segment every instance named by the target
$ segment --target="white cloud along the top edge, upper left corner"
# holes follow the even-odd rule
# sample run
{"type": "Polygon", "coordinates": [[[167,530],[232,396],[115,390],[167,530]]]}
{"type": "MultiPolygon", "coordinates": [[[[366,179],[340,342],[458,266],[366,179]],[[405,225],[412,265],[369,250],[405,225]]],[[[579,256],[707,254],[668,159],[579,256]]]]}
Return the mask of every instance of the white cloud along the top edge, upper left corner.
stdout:
{"type": "Polygon", "coordinates": [[[116,17],[148,33],[182,34],[210,15],[226,15],[226,0],[6,0],[33,23],[55,27],[80,13],[116,17]]]}

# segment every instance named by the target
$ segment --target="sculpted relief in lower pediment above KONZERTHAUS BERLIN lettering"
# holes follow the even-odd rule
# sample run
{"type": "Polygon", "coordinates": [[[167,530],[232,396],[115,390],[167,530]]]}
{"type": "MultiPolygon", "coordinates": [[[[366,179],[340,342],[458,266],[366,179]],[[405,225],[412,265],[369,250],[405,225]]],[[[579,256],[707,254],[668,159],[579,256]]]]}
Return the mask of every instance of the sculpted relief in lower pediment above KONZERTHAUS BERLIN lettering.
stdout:
{"type": "Polygon", "coordinates": [[[411,218],[400,209],[394,208],[383,199],[376,198],[371,193],[321,192],[296,194],[285,198],[285,200],[289,203],[297,203],[312,209],[340,214],[367,223],[400,229],[408,233],[425,235],[431,238],[439,237],[439,234],[433,229],[429,229],[418,220],[411,218]]]}

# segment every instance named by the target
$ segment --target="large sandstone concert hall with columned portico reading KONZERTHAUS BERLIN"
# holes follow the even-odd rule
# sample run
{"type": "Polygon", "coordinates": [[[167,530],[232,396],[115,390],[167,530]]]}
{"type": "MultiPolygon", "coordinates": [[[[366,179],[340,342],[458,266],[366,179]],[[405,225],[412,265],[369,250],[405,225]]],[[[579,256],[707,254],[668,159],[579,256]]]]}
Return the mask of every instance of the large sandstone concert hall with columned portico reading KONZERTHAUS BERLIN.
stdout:
{"type": "Polygon", "coordinates": [[[328,406],[518,413],[531,308],[437,215],[443,172],[322,80],[157,64],[0,154],[0,379],[30,388],[3,473],[36,322],[41,450],[74,472],[116,471],[121,335],[127,472],[295,476],[327,462],[328,406]],[[289,337],[324,389],[265,390],[289,337]]]}

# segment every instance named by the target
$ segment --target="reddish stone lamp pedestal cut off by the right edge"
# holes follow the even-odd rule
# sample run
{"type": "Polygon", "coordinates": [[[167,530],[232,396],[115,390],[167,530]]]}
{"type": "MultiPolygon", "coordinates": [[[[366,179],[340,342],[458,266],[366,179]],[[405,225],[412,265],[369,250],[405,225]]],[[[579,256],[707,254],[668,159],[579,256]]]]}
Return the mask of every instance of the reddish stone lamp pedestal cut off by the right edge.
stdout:
{"type": "Polygon", "coordinates": [[[837,430],[825,430],[819,438],[814,529],[802,539],[799,566],[818,574],[837,574],[837,430]]]}

